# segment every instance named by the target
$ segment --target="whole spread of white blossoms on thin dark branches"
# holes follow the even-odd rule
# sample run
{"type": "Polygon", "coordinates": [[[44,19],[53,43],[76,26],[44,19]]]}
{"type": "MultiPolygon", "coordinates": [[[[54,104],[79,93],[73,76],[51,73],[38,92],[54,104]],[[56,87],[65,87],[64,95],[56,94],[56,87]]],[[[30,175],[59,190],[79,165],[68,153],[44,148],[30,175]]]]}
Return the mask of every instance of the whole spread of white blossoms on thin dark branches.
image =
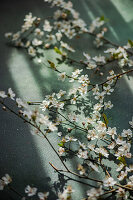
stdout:
{"type": "MultiPolygon", "coordinates": [[[[7,106],[6,99],[10,98],[15,102],[18,111],[12,112],[32,126],[32,134],[43,135],[66,168],[65,173],[68,172],[99,183],[98,187],[87,190],[86,199],[101,199],[108,193],[114,194],[118,200],[131,199],[133,198],[131,196],[133,164],[130,163],[132,161],[133,118],[129,121],[130,127],[120,132],[116,127],[110,126],[108,110],[114,106],[109,97],[111,98],[117,81],[122,75],[133,70],[121,74],[116,74],[115,69],[109,70],[106,78],[104,73],[100,72],[100,75],[105,78],[100,83],[93,83],[91,73],[94,75],[97,70],[100,70],[100,67],[103,68],[113,61],[117,61],[120,67],[131,68],[133,60],[129,50],[133,46],[132,41],[128,41],[127,45],[123,47],[108,48],[103,55],[91,56],[90,53],[83,52],[83,60],[75,61],[69,55],[74,54],[76,50],[66,42],[66,38],[69,41],[78,37],[79,34],[90,34],[95,36],[96,47],[103,46],[104,42],[108,41],[104,38],[107,32],[107,28],[104,27],[106,19],[103,16],[97,17],[88,26],[73,8],[72,2],[44,1],[50,3],[51,7],[57,8],[53,17],[41,19],[29,13],[25,16],[20,31],[6,33],[5,36],[14,46],[25,48],[33,59],[38,60],[38,64],[50,67],[51,70],[58,73],[58,81],[66,81],[71,87],[66,91],[60,89],[56,93],[46,95],[44,100],[39,103],[38,108],[33,110],[31,109],[32,102],[27,103],[16,98],[11,88],[7,92],[0,91],[0,104],[3,106],[3,110],[12,111],[7,106]],[[59,54],[62,62],[69,60],[71,61],[69,64],[75,62],[85,68],[72,69],[69,74],[66,70],[60,71],[56,61],[44,62],[42,52],[49,48],[59,54]],[[81,104],[82,106],[79,106],[81,104]],[[51,132],[56,133],[59,140],[56,148],[48,138],[51,132]],[[84,139],[79,139],[76,133],[81,133],[84,139]],[[76,172],[69,170],[63,160],[71,154],[78,160],[76,172]],[[112,168],[116,168],[116,174],[113,174],[109,168],[112,162],[114,163],[112,168]],[[100,178],[90,179],[90,175],[97,174],[97,177],[100,177],[100,173],[104,174],[103,180],[100,178]]],[[[51,166],[56,172],[63,173],[63,170],[57,169],[53,164],[51,166]]],[[[0,180],[0,190],[3,190],[11,182],[11,177],[6,174],[0,180]]],[[[36,187],[30,185],[25,188],[27,197],[38,195],[40,200],[49,198],[49,192],[37,191],[36,187]]],[[[57,198],[59,200],[72,199],[74,191],[68,185],[64,187],[63,191],[58,192],[57,198]]]]}

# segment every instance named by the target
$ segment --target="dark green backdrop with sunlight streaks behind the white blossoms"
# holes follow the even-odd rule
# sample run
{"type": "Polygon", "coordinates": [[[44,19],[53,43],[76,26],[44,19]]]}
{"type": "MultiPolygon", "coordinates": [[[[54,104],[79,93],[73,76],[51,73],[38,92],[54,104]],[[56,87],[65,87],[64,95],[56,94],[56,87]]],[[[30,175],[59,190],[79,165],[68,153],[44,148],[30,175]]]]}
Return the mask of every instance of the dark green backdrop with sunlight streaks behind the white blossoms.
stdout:
{"type": "MultiPolygon", "coordinates": [[[[75,8],[81,13],[81,17],[87,24],[97,16],[104,15],[109,19],[106,37],[125,44],[128,39],[133,39],[133,1],[132,0],[73,0],[75,8]]],[[[52,15],[52,10],[43,0],[1,1],[0,19],[0,90],[7,90],[11,87],[15,93],[29,100],[43,100],[46,94],[67,90],[70,85],[62,85],[57,80],[57,75],[51,70],[39,67],[33,63],[28,55],[22,50],[11,48],[6,45],[5,32],[18,31],[24,16],[32,12],[39,17],[52,15]]],[[[99,54],[101,49],[96,49],[92,38],[84,36],[77,40],[73,39],[71,44],[78,49],[75,58],[82,58],[82,51],[91,55],[99,54]]],[[[52,54],[48,54],[51,58],[52,54]]],[[[108,66],[104,71],[113,68],[115,73],[122,72],[115,64],[108,66]]],[[[63,69],[63,68],[62,68],[63,69]]],[[[69,73],[72,68],[68,67],[69,73]]],[[[112,118],[110,126],[116,126],[118,132],[129,128],[128,121],[133,115],[133,73],[130,79],[123,77],[112,94],[114,108],[108,115],[112,118]]],[[[101,81],[97,75],[96,79],[101,81]]],[[[29,127],[20,119],[10,113],[0,110],[0,177],[9,173],[13,178],[13,186],[24,194],[24,187],[27,184],[38,187],[39,191],[50,192],[50,200],[57,199],[57,188],[63,188],[66,181],[60,179],[49,166],[49,161],[60,168],[60,161],[51,151],[49,145],[42,139],[32,136],[29,127]]],[[[49,135],[50,141],[57,147],[58,138],[56,135],[49,135]]],[[[69,160],[68,165],[76,169],[77,160],[69,160]]],[[[115,171],[115,169],[113,169],[115,171]]],[[[85,197],[85,191],[89,187],[78,183],[67,181],[76,190],[73,199],[85,197]]],[[[94,184],[94,183],[93,183],[94,184]]],[[[8,191],[0,192],[2,200],[19,199],[8,191]]]]}

